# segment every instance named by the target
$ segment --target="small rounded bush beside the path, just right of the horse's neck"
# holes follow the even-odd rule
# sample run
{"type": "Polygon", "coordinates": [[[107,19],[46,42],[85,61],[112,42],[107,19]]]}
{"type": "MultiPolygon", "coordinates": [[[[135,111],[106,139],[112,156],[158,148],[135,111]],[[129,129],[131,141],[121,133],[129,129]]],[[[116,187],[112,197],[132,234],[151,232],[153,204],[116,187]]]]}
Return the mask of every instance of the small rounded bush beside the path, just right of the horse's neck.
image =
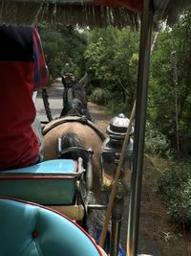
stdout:
{"type": "Polygon", "coordinates": [[[97,105],[107,105],[109,98],[109,91],[102,88],[96,88],[90,96],[90,100],[97,105]]]}

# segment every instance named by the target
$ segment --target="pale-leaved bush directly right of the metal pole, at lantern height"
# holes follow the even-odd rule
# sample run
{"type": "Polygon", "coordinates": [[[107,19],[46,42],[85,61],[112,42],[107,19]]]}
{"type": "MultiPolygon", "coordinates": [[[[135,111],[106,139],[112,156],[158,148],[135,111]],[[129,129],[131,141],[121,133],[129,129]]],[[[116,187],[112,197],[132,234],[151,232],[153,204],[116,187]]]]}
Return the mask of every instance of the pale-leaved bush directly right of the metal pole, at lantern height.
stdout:
{"type": "Polygon", "coordinates": [[[165,135],[153,128],[150,123],[146,124],[145,151],[158,156],[169,154],[170,144],[165,135]]]}

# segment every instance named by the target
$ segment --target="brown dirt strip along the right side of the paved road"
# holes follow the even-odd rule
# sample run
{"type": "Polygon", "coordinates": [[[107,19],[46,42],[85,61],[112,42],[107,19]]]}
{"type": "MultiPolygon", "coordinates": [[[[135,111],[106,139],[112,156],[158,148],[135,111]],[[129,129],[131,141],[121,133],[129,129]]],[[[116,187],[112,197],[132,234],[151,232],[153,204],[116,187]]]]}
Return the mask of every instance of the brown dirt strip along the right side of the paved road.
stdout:
{"type": "MultiPolygon", "coordinates": [[[[97,126],[105,132],[110,119],[101,108],[89,103],[97,126]]],[[[107,135],[107,134],[106,134],[107,135]]],[[[167,215],[167,208],[159,195],[158,180],[167,163],[163,159],[145,155],[142,177],[142,194],[139,219],[138,253],[153,256],[190,256],[186,254],[185,238],[182,230],[178,228],[167,215]]],[[[128,200],[125,202],[124,220],[121,226],[123,247],[126,247],[128,200]]],[[[187,237],[188,250],[191,250],[191,238],[187,237]]]]}

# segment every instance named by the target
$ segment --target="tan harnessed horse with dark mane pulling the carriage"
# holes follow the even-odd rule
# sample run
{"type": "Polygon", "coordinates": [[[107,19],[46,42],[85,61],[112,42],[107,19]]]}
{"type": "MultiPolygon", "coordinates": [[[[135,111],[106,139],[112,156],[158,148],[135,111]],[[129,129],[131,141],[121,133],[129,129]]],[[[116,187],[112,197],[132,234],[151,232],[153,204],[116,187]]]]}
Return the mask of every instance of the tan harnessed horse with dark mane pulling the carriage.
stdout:
{"type": "MultiPolygon", "coordinates": [[[[100,166],[99,157],[102,150],[102,143],[105,139],[103,133],[96,127],[96,124],[92,122],[92,117],[87,108],[87,98],[85,93],[85,85],[87,83],[87,75],[85,75],[80,81],[72,81],[67,83],[62,78],[64,84],[64,107],[62,109],[59,118],[54,119],[43,128],[44,133],[44,160],[51,160],[58,158],[57,154],[57,142],[61,139],[62,150],[66,150],[71,147],[77,147],[80,149],[92,149],[94,152],[92,156],[92,168],[93,168],[93,197],[90,198],[90,204],[106,204],[107,196],[101,192],[100,186],[100,166]]],[[[87,168],[87,157],[81,154],[80,151],[68,152],[63,157],[77,160],[78,157],[83,158],[84,167],[87,168]]],[[[92,212],[92,211],[91,211],[92,212]]],[[[97,210],[96,212],[99,212],[97,210]]],[[[92,225],[91,222],[95,222],[95,216],[104,220],[104,214],[100,212],[93,214],[91,218],[94,221],[89,221],[88,232],[93,237],[96,237],[99,224],[92,225]],[[100,217],[101,216],[101,217],[100,217]],[[96,228],[96,229],[95,229],[96,228]]]]}

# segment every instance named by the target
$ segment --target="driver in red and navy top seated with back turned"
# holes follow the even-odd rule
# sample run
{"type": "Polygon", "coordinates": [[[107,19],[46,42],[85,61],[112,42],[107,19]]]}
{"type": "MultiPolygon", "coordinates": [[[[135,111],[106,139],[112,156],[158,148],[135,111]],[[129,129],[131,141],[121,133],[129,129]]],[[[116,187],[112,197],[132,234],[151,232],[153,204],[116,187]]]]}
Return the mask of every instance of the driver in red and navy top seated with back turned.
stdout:
{"type": "Polygon", "coordinates": [[[0,26],[0,170],[41,159],[32,93],[48,81],[48,68],[35,27],[0,26]]]}

